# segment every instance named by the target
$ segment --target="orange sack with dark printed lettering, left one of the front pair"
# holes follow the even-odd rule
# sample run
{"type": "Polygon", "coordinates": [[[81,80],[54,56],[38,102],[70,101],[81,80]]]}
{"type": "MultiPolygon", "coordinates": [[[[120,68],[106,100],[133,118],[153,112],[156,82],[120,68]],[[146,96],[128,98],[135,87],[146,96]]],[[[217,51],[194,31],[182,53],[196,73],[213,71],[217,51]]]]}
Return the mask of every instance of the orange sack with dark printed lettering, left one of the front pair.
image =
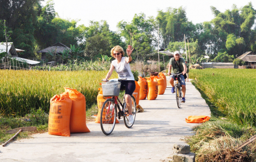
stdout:
{"type": "Polygon", "coordinates": [[[70,137],[70,112],[72,100],[69,93],[54,95],[50,100],[48,134],[70,137]]]}

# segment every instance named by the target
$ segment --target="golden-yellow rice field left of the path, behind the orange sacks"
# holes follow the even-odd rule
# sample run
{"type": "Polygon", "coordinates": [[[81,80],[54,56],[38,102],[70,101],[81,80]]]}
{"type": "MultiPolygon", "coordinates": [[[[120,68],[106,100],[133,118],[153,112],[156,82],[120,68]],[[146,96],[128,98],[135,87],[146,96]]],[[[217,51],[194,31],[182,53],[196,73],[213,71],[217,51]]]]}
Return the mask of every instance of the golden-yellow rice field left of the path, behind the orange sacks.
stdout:
{"type": "MultiPolygon", "coordinates": [[[[0,70],[0,115],[22,116],[32,108],[48,113],[50,99],[64,92],[64,87],[77,89],[86,96],[87,108],[96,103],[99,83],[107,71],[39,71],[0,70]]],[[[117,73],[112,78],[118,77],[117,73]]]]}

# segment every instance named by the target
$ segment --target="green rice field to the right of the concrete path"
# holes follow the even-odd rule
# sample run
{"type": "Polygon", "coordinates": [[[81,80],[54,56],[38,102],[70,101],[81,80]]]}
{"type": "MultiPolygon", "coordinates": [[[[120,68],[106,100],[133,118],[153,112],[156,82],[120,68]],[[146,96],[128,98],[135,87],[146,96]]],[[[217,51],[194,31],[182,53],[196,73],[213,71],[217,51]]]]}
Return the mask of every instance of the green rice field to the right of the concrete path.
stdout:
{"type": "Polygon", "coordinates": [[[191,69],[190,78],[228,118],[256,126],[255,69],[191,69]]]}

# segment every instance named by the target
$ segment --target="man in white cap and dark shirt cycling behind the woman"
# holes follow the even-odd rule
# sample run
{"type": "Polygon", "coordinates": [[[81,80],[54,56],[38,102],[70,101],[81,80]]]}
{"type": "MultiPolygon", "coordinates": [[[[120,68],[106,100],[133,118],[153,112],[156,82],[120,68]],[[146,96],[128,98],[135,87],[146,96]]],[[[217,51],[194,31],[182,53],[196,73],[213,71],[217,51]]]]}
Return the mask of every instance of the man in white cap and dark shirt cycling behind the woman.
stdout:
{"type": "MultiPolygon", "coordinates": [[[[174,93],[174,75],[173,74],[182,72],[182,74],[184,75],[184,74],[186,74],[186,71],[187,71],[187,67],[186,67],[185,60],[182,57],[180,57],[179,51],[175,51],[174,58],[170,59],[169,69],[168,69],[168,73],[167,73],[167,75],[170,76],[169,82],[170,82],[170,85],[172,85],[172,91],[171,91],[172,93],[174,93]]],[[[185,83],[185,79],[184,79],[183,75],[178,76],[178,80],[182,87],[182,101],[181,102],[185,102],[185,93],[186,93],[186,83],[185,83]]]]}

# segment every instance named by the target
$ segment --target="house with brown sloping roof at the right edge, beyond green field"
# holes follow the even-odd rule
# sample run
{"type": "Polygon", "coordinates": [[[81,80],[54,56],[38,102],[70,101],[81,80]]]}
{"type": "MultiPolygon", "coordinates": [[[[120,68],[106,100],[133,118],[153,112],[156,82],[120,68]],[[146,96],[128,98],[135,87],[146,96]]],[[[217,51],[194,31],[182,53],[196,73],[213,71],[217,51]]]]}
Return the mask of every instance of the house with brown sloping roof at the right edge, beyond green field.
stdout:
{"type": "Polygon", "coordinates": [[[241,59],[242,61],[245,61],[247,68],[256,69],[256,54],[254,54],[252,51],[248,51],[237,57],[236,59],[241,59]]]}

